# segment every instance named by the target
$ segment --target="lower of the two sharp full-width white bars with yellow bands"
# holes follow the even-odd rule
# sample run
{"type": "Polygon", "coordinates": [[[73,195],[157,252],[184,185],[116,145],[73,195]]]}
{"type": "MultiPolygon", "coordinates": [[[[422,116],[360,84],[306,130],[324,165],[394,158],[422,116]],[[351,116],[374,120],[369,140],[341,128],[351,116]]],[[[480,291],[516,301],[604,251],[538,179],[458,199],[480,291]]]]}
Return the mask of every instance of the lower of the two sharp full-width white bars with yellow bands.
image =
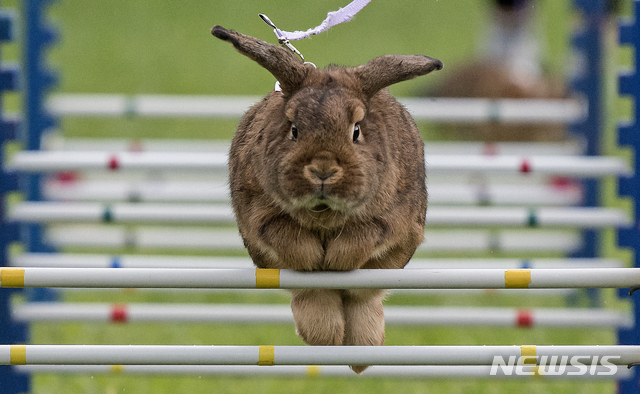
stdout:
{"type": "Polygon", "coordinates": [[[562,357],[629,365],[640,362],[640,346],[0,345],[0,365],[492,365],[496,358],[546,365],[562,357]]]}

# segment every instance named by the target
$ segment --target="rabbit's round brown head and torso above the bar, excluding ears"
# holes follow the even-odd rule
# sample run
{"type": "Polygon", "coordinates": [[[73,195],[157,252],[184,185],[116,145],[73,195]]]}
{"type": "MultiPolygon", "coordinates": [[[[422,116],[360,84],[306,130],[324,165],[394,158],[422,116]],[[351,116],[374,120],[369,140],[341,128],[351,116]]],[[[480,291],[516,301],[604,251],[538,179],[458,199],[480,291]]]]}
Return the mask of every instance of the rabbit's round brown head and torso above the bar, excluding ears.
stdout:
{"type": "Polygon", "coordinates": [[[246,114],[233,139],[232,202],[260,268],[402,268],[422,242],[427,192],[417,127],[381,91],[371,100],[385,106],[357,120],[367,145],[354,144],[348,128],[354,111],[364,117],[364,104],[350,110],[348,93],[336,90],[308,88],[289,100],[273,92],[246,114]],[[324,102],[314,100],[322,93],[324,102]],[[268,119],[289,112],[297,114],[297,141],[287,137],[289,121],[268,119]],[[323,181],[323,172],[333,175],[323,181]]]}

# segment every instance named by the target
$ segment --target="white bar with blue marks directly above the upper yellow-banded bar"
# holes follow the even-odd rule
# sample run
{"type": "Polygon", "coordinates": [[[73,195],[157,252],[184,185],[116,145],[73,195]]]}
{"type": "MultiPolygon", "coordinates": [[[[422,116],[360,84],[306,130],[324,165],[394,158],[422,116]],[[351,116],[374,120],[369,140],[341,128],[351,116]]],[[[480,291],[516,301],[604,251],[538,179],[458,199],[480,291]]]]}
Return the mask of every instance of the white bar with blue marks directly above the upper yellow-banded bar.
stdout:
{"type": "MultiPolygon", "coordinates": [[[[248,257],[101,255],[81,253],[21,253],[9,256],[14,267],[51,268],[255,268],[248,257]]],[[[622,268],[616,259],[603,258],[413,258],[404,269],[435,268],[622,268]]]]}

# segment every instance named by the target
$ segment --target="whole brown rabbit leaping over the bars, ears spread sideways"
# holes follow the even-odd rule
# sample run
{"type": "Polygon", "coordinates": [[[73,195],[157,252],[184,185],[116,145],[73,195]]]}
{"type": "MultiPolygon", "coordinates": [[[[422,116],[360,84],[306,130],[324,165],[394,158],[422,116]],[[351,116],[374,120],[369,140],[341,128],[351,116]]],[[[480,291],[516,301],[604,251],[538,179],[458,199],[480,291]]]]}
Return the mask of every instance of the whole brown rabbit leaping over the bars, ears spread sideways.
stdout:
{"type": "MultiPolygon", "coordinates": [[[[216,26],[280,82],[238,126],[229,157],[240,234],[260,268],[403,268],[423,240],[423,142],[384,89],[442,68],[426,56],[382,56],[316,69],[278,45],[216,26]]],[[[384,290],[292,292],[309,345],[383,345],[384,290]]],[[[358,373],[365,366],[352,366],[358,373]]]]}

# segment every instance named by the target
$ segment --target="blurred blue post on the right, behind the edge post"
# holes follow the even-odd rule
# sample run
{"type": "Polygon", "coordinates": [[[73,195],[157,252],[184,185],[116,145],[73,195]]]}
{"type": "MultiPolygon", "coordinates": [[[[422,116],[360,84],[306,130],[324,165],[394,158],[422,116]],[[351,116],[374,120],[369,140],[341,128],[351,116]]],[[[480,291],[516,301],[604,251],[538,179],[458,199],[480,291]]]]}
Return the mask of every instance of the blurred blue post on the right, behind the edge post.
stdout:
{"type": "MultiPolygon", "coordinates": [[[[572,91],[585,98],[588,103],[588,116],[580,123],[571,125],[574,135],[582,137],[586,143],[586,154],[600,154],[600,134],[603,129],[602,119],[602,39],[603,21],[606,18],[606,0],[575,0],[575,8],[582,16],[582,25],[573,35],[576,70],[572,76],[572,91]]],[[[583,180],[584,205],[595,207],[600,205],[599,183],[597,180],[583,180]]],[[[583,231],[582,249],[571,257],[597,257],[599,255],[597,230],[583,231]]],[[[597,289],[586,290],[590,306],[600,304],[600,293],[597,289]]],[[[575,300],[574,300],[575,301],[575,300]]]]}

